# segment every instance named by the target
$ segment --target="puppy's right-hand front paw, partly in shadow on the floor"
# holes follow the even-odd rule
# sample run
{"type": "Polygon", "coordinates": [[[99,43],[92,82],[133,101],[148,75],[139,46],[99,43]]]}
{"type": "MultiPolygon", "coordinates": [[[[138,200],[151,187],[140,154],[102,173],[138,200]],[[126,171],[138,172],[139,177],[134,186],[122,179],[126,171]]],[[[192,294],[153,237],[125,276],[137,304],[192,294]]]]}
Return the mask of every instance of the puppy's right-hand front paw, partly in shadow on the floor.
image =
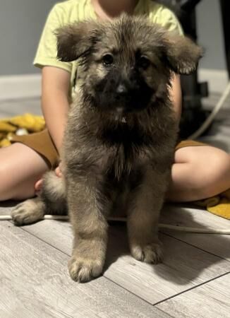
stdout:
{"type": "Polygon", "coordinates": [[[138,261],[157,264],[162,262],[163,246],[161,242],[152,243],[145,246],[133,245],[131,246],[131,254],[138,261]]]}

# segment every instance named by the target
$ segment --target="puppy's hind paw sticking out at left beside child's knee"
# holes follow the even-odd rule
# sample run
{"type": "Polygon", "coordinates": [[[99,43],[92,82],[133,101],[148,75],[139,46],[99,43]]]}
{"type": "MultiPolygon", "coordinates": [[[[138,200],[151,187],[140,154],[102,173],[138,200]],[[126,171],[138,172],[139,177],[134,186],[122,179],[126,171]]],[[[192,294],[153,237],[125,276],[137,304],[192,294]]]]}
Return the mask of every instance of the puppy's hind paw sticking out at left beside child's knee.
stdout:
{"type": "Polygon", "coordinates": [[[22,204],[18,204],[11,212],[15,225],[25,225],[34,223],[44,216],[44,206],[38,198],[28,199],[22,204]]]}

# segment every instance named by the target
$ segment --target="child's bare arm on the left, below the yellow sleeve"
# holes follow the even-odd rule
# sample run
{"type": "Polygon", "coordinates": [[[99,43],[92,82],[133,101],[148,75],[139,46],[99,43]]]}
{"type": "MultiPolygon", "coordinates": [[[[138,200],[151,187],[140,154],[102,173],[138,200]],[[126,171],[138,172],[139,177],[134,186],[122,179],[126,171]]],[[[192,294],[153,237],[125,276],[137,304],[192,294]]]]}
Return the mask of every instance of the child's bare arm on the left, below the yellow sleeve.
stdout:
{"type": "Polygon", "coordinates": [[[64,69],[42,68],[42,112],[57,151],[60,151],[66,124],[70,76],[64,69]]]}

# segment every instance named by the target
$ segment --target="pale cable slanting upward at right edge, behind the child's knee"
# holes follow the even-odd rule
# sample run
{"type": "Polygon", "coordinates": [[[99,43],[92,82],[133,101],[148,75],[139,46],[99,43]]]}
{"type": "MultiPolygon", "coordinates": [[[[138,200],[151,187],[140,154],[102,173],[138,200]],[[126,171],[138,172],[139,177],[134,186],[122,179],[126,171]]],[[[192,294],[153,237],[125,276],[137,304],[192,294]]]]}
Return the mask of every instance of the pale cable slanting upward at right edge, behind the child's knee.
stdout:
{"type": "Polygon", "coordinates": [[[200,128],[198,128],[197,131],[195,131],[193,134],[191,134],[188,137],[188,139],[197,139],[200,135],[202,135],[202,133],[207,129],[207,127],[210,126],[214,117],[217,116],[217,113],[219,112],[221,107],[224,105],[224,102],[229,94],[230,94],[230,82],[226,86],[224,93],[222,94],[222,97],[219,99],[219,102],[217,102],[217,105],[214,107],[214,109],[212,110],[209,117],[207,117],[207,119],[205,120],[205,122],[202,123],[200,128]]]}

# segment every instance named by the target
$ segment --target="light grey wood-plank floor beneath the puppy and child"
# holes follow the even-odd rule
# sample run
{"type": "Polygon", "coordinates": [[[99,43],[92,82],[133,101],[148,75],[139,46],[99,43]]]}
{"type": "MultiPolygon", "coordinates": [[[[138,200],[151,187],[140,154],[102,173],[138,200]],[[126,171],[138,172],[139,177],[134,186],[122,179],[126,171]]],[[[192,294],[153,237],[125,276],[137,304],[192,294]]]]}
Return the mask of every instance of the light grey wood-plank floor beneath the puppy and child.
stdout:
{"type": "MultiPolygon", "coordinates": [[[[203,140],[230,151],[228,105],[203,140]]],[[[0,103],[0,117],[23,112],[40,114],[39,101],[0,103]]],[[[12,206],[1,203],[0,214],[9,214],[12,206]]],[[[229,220],[185,204],[164,206],[161,222],[230,229],[229,220]]],[[[0,318],[230,317],[230,235],[161,230],[160,237],[163,263],[143,264],[129,254],[125,224],[111,224],[103,276],[78,284],[67,270],[68,222],[43,220],[17,228],[1,221],[0,318]]]]}

